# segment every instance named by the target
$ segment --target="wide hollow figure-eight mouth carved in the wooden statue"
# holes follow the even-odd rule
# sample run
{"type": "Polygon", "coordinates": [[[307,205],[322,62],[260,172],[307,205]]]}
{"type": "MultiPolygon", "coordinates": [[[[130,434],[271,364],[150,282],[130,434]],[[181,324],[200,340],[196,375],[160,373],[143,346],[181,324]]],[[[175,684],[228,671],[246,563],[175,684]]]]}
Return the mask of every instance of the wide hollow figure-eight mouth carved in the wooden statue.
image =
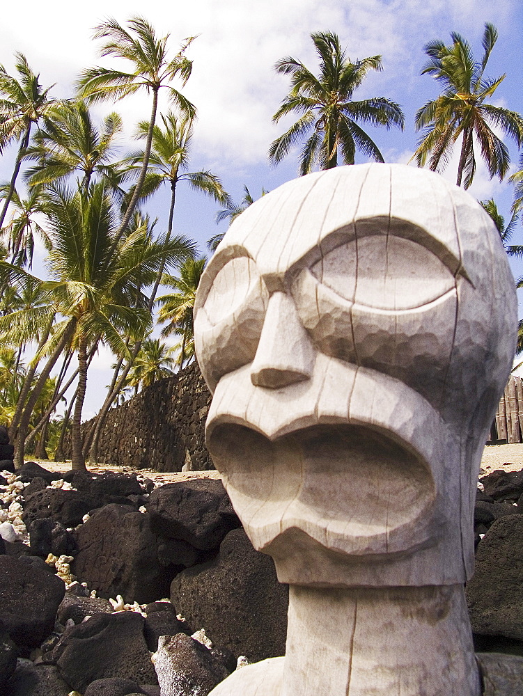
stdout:
{"type": "Polygon", "coordinates": [[[334,552],[396,554],[434,535],[430,467],[391,433],[315,425],[271,441],[249,427],[221,423],[208,447],[260,550],[299,532],[334,552]]]}

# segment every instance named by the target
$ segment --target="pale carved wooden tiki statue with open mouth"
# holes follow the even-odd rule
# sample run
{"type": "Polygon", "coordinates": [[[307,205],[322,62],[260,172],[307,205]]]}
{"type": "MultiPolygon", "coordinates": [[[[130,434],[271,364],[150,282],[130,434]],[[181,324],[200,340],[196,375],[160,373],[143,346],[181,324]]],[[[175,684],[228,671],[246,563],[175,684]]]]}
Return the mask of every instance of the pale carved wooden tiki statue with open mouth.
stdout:
{"type": "Polygon", "coordinates": [[[285,658],[235,696],[478,696],[463,583],[516,299],[476,201],[402,165],[288,182],[231,225],[194,310],[207,443],[290,585],[285,658]]]}

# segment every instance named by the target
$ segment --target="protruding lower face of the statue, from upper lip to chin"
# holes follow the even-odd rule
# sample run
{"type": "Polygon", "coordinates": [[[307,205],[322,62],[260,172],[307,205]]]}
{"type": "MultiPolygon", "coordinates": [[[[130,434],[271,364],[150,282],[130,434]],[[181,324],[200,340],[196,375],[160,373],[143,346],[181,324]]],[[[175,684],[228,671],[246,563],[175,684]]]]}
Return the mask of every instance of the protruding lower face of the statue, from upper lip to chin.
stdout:
{"type": "MultiPolygon", "coordinates": [[[[456,511],[440,503],[458,467],[445,457],[448,428],[421,395],[322,354],[311,379],[280,389],[254,386],[252,371],[219,382],[207,443],[281,582],[372,585],[368,569],[379,583],[414,551],[457,543],[456,511]]],[[[444,583],[438,573],[428,584],[444,583]]]]}

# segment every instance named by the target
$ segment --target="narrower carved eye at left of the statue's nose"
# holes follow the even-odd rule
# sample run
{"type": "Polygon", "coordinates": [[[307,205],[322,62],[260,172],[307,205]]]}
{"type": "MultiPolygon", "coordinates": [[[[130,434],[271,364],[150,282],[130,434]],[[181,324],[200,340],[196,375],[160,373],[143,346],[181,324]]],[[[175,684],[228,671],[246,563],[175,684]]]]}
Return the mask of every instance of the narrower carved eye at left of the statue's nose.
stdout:
{"type": "Polygon", "coordinates": [[[205,299],[205,314],[210,324],[215,326],[232,315],[242,306],[249,292],[259,282],[260,274],[256,264],[247,256],[229,261],[214,278],[205,299]]]}

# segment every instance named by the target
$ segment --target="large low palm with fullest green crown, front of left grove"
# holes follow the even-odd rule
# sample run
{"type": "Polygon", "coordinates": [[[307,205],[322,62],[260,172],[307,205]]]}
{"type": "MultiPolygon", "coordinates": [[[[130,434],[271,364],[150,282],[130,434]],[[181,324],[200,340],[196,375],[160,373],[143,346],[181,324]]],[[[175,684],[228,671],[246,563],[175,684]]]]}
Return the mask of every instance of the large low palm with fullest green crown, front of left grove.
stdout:
{"type": "MultiPolygon", "coordinates": [[[[156,242],[144,244],[143,230],[136,230],[115,246],[116,218],[103,182],[91,184],[88,191],[83,187],[75,192],[65,187],[50,189],[47,215],[52,239],[47,267],[52,280],[42,281],[42,287],[72,326],[69,345],[77,353],[79,369],[72,418],[72,468],[84,468],[80,422],[88,349],[100,338],[114,352],[127,351],[122,333],[129,331],[130,326],[150,324],[144,301],[136,303],[136,287],[152,283],[165,259],[172,261],[192,253],[192,244],[185,237],[172,235],[162,235],[156,242]]],[[[0,321],[4,319],[8,317],[0,321]]],[[[20,431],[27,418],[24,411],[17,443],[22,452],[20,431]]]]}

